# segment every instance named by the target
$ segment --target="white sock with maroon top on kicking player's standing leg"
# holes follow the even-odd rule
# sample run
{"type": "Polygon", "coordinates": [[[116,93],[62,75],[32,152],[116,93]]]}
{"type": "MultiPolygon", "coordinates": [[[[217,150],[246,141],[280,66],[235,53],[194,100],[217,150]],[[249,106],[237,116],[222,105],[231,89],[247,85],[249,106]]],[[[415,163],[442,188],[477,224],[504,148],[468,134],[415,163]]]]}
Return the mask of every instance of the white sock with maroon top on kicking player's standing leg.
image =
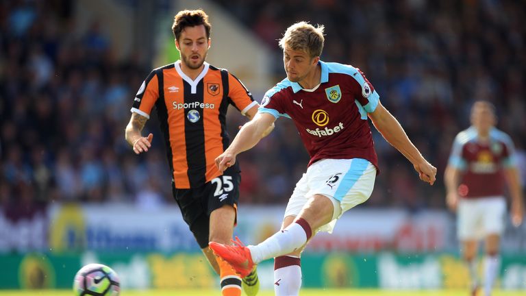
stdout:
{"type": "Polygon", "coordinates": [[[276,296],[298,295],[301,288],[299,257],[280,256],[274,261],[274,293],[276,296]]]}

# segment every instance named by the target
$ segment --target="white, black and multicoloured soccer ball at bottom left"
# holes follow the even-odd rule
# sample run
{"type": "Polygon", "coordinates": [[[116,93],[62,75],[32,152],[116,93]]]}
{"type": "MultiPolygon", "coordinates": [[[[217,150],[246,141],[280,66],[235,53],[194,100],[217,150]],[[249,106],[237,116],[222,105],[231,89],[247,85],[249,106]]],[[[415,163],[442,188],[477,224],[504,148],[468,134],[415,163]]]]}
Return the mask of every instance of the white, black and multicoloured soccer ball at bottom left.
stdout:
{"type": "Polygon", "coordinates": [[[103,264],[88,264],[75,275],[73,292],[77,296],[118,296],[121,286],[113,269],[103,264]]]}

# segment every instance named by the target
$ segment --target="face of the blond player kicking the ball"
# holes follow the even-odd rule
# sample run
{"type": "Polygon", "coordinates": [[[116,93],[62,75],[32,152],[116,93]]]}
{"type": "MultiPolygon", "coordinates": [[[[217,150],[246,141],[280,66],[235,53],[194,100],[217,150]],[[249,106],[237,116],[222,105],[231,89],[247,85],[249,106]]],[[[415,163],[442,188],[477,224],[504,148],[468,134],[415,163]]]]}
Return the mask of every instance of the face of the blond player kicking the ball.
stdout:
{"type": "Polygon", "coordinates": [[[301,82],[310,71],[316,69],[317,58],[311,58],[305,51],[295,51],[285,46],[283,49],[283,64],[287,78],[291,82],[301,82]]]}

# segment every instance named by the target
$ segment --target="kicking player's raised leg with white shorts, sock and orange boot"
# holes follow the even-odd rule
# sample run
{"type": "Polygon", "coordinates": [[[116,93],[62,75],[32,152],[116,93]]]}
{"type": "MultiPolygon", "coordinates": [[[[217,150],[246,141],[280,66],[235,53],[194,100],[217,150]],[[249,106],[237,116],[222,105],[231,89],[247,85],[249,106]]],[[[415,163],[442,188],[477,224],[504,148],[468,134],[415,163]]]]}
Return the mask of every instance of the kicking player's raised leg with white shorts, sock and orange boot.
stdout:
{"type": "MultiPolygon", "coordinates": [[[[309,186],[313,185],[303,195],[308,201],[303,203],[294,223],[255,246],[245,247],[239,244],[239,247],[229,247],[211,243],[210,247],[243,276],[253,264],[301,249],[312,236],[312,230],[322,230],[323,226],[323,231],[330,232],[336,223],[335,205],[338,206],[336,217],[339,217],[340,213],[364,202],[371,195],[375,175],[373,164],[363,159],[316,162],[302,177],[303,180],[308,176],[307,183],[309,186]]],[[[292,197],[286,213],[291,202],[292,197]]]]}

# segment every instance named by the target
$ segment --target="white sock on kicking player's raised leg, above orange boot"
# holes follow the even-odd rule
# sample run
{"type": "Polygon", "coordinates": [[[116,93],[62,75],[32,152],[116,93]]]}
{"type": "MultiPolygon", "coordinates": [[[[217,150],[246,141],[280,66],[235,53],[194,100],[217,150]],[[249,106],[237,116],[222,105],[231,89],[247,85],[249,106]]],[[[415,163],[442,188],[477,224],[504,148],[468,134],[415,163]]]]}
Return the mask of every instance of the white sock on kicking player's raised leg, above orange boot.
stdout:
{"type": "MultiPolygon", "coordinates": [[[[307,227],[309,226],[307,225],[307,227]]],[[[258,264],[266,259],[292,253],[307,243],[310,236],[308,232],[310,232],[310,228],[304,230],[303,226],[295,222],[288,225],[284,230],[279,230],[262,243],[249,245],[252,261],[258,264]]]]}

